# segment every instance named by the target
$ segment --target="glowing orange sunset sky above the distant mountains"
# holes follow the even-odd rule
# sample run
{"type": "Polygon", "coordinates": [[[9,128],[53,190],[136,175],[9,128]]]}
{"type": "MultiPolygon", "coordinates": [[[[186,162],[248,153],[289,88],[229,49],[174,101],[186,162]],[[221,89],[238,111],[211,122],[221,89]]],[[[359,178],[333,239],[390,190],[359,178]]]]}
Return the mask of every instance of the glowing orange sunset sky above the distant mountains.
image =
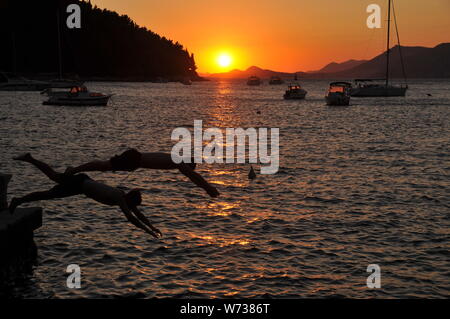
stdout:
{"type": "MultiPolygon", "coordinates": [[[[369,59],[385,50],[387,0],[93,0],[183,44],[199,72],[251,65],[295,72],[329,62],[369,59]],[[368,29],[366,8],[379,4],[383,29],[368,29]]],[[[450,42],[450,0],[395,0],[402,45],[450,42]]]]}

